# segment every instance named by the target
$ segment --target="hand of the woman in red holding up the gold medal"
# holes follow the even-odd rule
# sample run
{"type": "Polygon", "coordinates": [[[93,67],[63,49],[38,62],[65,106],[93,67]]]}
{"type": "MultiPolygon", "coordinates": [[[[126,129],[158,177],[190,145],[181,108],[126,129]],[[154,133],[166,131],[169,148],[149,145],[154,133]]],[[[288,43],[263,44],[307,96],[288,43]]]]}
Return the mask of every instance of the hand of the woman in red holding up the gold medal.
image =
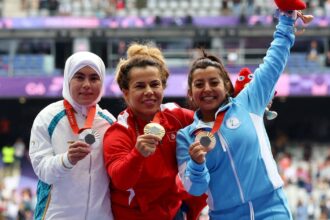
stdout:
{"type": "Polygon", "coordinates": [[[156,135],[143,134],[137,137],[135,147],[142,156],[149,157],[155,153],[160,141],[161,139],[156,135]]]}

